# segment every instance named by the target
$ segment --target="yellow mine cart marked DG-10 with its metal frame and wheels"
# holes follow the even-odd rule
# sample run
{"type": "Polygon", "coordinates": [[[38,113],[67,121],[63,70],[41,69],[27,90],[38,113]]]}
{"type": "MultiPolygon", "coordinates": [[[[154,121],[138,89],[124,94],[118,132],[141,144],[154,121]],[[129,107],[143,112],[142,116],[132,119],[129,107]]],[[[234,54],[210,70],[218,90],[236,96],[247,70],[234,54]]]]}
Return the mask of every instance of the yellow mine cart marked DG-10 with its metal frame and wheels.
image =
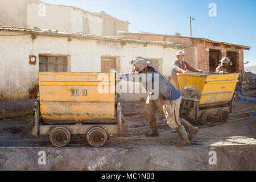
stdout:
{"type": "Polygon", "coordinates": [[[32,134],[49,135],[56,147],[67,146],[73,134],[101,147],[108,134],[127,133],[115,73],[40,72],[34,110],[32,134]]]}

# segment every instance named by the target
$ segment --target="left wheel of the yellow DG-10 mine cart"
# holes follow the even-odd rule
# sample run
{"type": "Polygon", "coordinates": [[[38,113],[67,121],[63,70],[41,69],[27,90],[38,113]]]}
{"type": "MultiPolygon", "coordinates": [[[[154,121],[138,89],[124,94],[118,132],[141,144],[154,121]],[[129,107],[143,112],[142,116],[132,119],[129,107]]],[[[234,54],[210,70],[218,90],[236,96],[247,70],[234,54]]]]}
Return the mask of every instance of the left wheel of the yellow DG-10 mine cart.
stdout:
{"type": "Polygon", "coordinates": [[[71,134],[65,127],[56,127],[52,130],[49,138],[53,146],[64,147],[68,145],[71,134]]]}

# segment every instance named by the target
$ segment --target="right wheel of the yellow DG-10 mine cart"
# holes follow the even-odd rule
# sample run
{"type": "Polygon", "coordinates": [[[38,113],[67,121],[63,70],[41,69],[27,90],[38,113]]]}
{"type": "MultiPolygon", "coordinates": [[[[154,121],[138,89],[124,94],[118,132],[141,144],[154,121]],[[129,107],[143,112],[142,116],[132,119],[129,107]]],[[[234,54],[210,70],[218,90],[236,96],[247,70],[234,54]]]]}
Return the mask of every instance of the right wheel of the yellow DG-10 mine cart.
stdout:
{"type": "Polygon", "coordinates": [[[93,127],[87,133],[87,142],[93,147],[101,147],[107,139],[107,133],[102,127],[93,127]]]}

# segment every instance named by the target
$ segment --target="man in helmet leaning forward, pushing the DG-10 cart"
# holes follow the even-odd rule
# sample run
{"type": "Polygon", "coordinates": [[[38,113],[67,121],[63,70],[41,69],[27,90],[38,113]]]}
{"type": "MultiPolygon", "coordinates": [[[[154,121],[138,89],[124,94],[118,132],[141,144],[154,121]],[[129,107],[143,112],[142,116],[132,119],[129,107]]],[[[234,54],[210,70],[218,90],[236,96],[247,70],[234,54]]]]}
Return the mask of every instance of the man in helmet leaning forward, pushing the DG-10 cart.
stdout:
{"type": "Polygon", "coordinates": [[[151,133],[147,137],[158,137],[158,127],[156,125],[155,111],[163,110],[166,115],[168,125],[177,131],[182,143],[176,146],[182,147],[190,144],[190,141],[198,132],[194,127],[183,118],[179,118],[181,94],[166,77],[160,74],[155,68],[151,67],[146,59],[138,58],[134,62],[135,73],[119,73],[117,77],[126,81],[139,80],[147,90],[148,97],[144,108],[144,117],[150,123],[151,133]],[[189,133],[189,137],[187,135],[189,133]]]}

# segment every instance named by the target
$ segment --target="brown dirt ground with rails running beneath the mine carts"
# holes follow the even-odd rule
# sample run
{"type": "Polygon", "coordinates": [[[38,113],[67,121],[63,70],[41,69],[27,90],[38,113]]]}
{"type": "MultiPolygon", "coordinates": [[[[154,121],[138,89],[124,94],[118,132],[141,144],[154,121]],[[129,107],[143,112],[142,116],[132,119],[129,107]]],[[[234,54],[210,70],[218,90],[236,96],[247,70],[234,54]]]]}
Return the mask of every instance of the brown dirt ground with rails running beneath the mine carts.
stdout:
{"type": "MultiPolygon", "coordinates": [[[[246,94],[256,90],[246,90],[246,94]]],[[[129,135],[109,136],[103,147],[93,148],[85,136],[73,136],[67,147],[52,147],[48,136],[28,134],[19,139],[32,115],[0,120],[0,170],[255,170],[256,117],[230,117],[227,123],[199,130],[190,146],[175,147],[180,140],[170,127],[159,128],[159,137],[147,138],[150,131],[143,117],[144,101],[122,102],[129,135]],[[130,115],[131,113],[139,113],[130,115]],[[144,128],[141,128],[144,127],[144,128]],[[145,128],[146,127],[146,128],[145,128]],[[47,165],[38,166],[40,150],[46,151],[47,165]],[[209,151],[216,151],[217,165],[209,165],[209,151]],[[18,159],[18,160],[17,160],[18,159]],[[65,160],[64,160],[65,159],[65,160]]],[[[233,113],[256,110],[256,102],[233,102],[233,113]]],[[[156,111],[158,125],[162,121],[156,111]]],[[[217,119],[214,122],[218,122],[217,119]]],[[[199,126],[200,123],[193,123],[199,126]]]]}

